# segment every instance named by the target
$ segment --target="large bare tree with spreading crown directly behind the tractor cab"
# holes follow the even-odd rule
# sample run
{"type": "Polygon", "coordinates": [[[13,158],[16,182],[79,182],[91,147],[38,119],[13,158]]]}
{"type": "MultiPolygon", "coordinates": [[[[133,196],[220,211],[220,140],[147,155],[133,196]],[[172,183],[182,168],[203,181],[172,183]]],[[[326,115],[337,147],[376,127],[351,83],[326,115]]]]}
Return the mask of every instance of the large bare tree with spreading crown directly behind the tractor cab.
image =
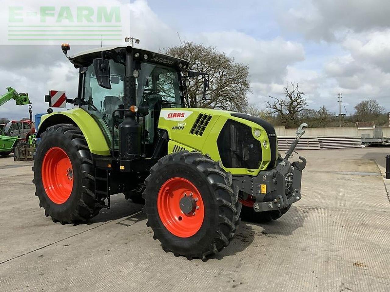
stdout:
{"type": "Polygon", "coordinates": [[[250,84],[247,65],[235,63],[234,58],[218,52],[215,47],[193,42],[170,47],[164,53],[188,60],[193,71],[209,74],[205,99],[202,76],[190,78],[186,106],[243,111],[248,104],[246,94],[250,91],[250,84]]]}

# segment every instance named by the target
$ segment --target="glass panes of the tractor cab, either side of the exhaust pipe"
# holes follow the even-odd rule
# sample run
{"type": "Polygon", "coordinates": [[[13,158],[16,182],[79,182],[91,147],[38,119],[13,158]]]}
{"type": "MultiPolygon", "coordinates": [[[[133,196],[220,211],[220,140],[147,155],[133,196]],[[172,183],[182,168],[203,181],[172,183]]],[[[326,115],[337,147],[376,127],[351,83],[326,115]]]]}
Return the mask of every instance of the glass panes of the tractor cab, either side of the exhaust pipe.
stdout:
{"type": "MultiPolygon", "coordinates": [[[[83,108],[96,117],[105,129],[107,140],[112,144],[112,128],[115,132],[122,122],[120,114],[113,112],[123,106],[123,81],[125,66],[110,60],[111,89],[97,84],[93,64],[88,67],[84,83],[84,100],[88,102],[83,108]]],[[[149,114],[140,120],[144,127],[145,143],[153,143],[156,138],[158,117],[162,108],[183,107],[179,90],[179,73],[169,67],[152,63],[141,63],[135,78],[137,106],[148,107],[149,114]]],[[[117,133],[115,148],[117,148],[117,133]]]]}

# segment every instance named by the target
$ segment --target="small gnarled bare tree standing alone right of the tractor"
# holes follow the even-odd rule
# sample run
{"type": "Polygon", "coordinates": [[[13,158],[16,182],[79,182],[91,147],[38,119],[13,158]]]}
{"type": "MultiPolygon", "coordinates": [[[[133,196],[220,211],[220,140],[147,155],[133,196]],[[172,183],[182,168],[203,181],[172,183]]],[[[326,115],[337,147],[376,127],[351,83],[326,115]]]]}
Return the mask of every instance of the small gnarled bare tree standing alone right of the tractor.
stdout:
{"type": "Polygon", "coordinates": [[[269,96],[273,101],[267,102],[269,112],[277,114],[281,123],[286,127],[295,127],[299,113],[307,107],[305,94],[299,90],[298,83],[291,83],[291,85],[291,90],[288,86],[284,88],[285,98],[279,99],[269,96]]]}

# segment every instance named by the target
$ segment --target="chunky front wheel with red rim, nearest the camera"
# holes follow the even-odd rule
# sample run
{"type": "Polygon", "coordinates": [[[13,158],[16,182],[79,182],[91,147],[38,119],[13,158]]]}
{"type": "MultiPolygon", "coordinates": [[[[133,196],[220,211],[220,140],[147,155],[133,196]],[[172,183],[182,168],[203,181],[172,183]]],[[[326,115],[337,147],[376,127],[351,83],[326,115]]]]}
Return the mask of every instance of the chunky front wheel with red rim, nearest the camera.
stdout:
{"type": "Polygon", "coordinates": [[[241,203],[230,173],[199,152],[161,158],[145,180],[147,226],[163,250],[206,260],[234,237],[241,203]]]}

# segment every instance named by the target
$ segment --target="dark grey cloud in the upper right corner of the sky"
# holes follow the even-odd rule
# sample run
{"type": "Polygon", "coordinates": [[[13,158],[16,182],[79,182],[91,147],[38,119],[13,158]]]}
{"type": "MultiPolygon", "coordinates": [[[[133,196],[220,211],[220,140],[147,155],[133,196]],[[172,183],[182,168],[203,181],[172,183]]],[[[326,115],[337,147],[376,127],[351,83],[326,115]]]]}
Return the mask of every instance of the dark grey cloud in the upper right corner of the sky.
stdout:
{"type": "Polygon", "coordinates": [[[280,11],[279,19],[308,39],[335,41],[350,31],[387,28],[389,12],[390,1],[383,0],[304,0],[280,11]]]}

